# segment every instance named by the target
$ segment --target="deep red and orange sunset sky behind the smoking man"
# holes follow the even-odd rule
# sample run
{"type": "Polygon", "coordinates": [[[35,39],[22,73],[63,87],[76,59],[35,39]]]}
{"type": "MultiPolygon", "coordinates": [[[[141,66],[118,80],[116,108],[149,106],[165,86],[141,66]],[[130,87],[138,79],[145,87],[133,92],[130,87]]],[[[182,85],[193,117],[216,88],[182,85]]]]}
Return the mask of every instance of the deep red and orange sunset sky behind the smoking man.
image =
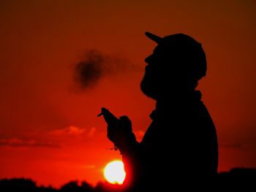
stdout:
{"type": "Polygon", "coordinates": [[[249,0],[1,1],[0,178],[103,180],[121,157],[106,149],[100,108],[128,115],[138,140],[151,122],[140,80],[155,44],[145,31],[201,42],[208,73],[198,89],[217,126],[219,172],[256,167],[255,10],[249,0]],[[91,49],[135,67],[77,91],[73,67],[91,49]]]}

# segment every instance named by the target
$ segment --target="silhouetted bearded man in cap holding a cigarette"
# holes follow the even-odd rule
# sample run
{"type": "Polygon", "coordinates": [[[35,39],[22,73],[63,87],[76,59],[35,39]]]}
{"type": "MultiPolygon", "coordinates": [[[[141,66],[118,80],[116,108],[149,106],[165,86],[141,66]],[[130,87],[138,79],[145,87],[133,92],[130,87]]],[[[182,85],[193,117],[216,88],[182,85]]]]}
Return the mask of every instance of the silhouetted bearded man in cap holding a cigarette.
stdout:
{"type": "Polygon", "coordinates": [[[217,174],[217,133],[197,82],[206,76],[202,46],[185,34],[157,37],[153,53],[145,59],[140,84],[146,96],[157,101],[151,125],[141,142],[132,133],[127,116],[115,118],[102,108],[108,139],[120,150],[127,172],[127,191],[190,188],[208,183],[217,174]]]}

